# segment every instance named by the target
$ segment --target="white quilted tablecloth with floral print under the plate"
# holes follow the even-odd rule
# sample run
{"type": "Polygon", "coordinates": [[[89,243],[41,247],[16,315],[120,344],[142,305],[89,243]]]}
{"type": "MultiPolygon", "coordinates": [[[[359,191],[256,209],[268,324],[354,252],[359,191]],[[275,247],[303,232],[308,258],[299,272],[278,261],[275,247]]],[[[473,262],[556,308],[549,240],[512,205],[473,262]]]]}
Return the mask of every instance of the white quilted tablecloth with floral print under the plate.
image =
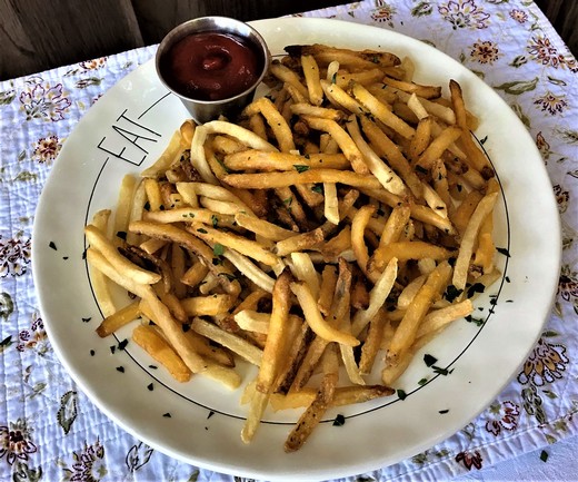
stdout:
{"type": "MultiPolygon", "coordinates": [[[[545,461],[557,441],[568,443],[578,432],[578,63],[527,0],[372,0],[303,16],[406,33],[479,75],[531,132],[562,220],[555,306],[510,385],[439,445],[348,481],[474,478],[476,471],[481,474],[536,450],[545,461]]],[[[132,50],[0,83],[2,481],[241,480],[172,460],[108,420],[59,363],[34,295],[32,224],[54,159],[87,109],[155,50],[132,50]]]]}

